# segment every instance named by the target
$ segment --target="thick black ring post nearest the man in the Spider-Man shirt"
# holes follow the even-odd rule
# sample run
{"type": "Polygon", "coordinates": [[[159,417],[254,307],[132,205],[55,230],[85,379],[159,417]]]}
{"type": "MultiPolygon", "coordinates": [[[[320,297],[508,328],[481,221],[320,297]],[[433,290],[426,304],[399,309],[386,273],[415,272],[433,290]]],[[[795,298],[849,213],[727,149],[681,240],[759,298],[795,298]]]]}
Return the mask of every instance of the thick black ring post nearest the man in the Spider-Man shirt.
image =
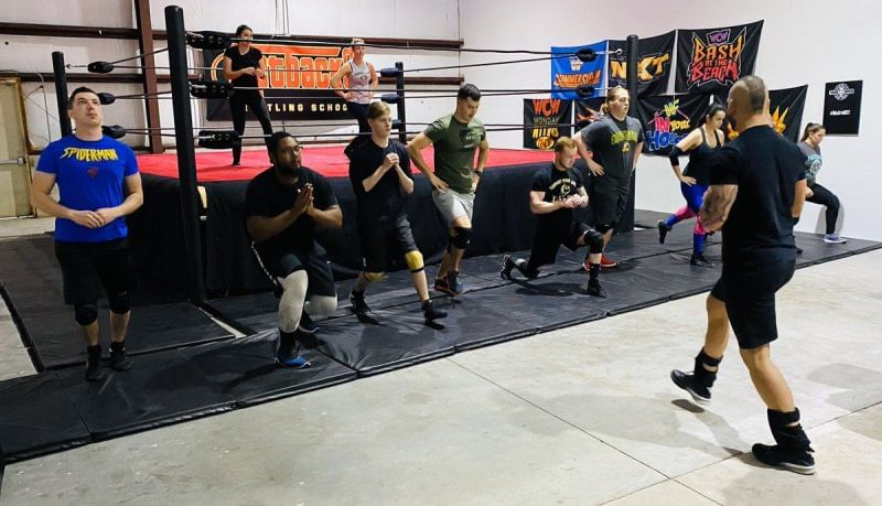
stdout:
{"type": "Polygon", "coordinates": [[[202,303],[205,302],[205,276],[202,267],[196,153],[193,148],[183,9],[178,6],[165,8],[165,30],[169,37],[174,141],[178,148],[178,174],[181,180],[181,213],[184,225],[184,254],[190,273],[190,299],[194,303],[202,303]]]}

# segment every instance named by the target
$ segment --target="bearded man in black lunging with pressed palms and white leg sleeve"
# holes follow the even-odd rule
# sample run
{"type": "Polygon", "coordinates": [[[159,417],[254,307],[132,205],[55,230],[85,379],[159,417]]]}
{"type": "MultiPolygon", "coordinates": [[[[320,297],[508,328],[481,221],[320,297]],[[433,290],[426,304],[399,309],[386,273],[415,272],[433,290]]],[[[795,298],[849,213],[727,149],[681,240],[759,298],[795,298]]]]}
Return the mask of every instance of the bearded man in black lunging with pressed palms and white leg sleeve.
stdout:
{"type": "Polygon", "coordinates": [[[300,143],[288,132],[269,138],[272,166],[248,185],[246,226],[254,249],[270,278],[281,287],[279,349],[286,367],[305,367],[298,342],[311,342],[301,319],[336,309],[336,290],[315,227],[340,228],[343,213],[327,180],[302,165],[300,143]]]}

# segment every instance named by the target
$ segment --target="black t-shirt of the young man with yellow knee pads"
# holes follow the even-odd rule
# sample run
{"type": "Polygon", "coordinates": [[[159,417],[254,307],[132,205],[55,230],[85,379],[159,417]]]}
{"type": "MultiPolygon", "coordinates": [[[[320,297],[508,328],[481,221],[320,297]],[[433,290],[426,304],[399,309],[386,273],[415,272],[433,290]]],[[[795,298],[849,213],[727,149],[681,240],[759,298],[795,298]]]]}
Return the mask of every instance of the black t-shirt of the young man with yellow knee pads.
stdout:
{"type": "Polygon", "coordinates": [[[398,182],[395,168],[383,174],[377,184],[365,192],[362,182],[369,177],[389,153],[398,153],[398,164],[408,177],[410,155],[405,144],[389,139],[386,148],[377,146],[369,137],[354,140],[344,151],[349,158],[349,181],[358,202],[358,223],[395,223],[395,218],[405,211],[407,194],[398,182]]]}

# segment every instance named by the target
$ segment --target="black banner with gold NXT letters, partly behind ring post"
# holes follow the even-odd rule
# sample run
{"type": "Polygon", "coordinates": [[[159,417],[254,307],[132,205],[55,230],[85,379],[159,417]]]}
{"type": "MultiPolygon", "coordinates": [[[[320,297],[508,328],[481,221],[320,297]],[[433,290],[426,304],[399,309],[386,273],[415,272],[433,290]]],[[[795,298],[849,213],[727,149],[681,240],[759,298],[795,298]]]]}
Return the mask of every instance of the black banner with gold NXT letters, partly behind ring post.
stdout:
{"type": "MultiPolygon", "coordinates": [[[[674,60],[674,39],[676,32],[641,39],[637,44],[637,95],[662,95],[668,90],[670,64],[674,60]]],[[[610,41],[610,87],[627,86],[625,65],[627,41],[610,41]],[[622,50],[616,55],[615,51],[622,50]]]]}

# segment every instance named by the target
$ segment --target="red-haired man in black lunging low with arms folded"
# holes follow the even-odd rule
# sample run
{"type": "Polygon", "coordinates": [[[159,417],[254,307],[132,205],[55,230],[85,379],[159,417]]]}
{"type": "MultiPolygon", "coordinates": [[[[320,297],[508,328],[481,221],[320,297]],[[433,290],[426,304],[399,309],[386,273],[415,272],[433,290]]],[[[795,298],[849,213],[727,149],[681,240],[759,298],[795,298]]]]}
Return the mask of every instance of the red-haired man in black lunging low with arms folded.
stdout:
{"type": "Polygon", "coordinates": [[[541,266],[555,263],[561,244],[573,251],[588,246],[585,263],[590,266],[590,279],[585,290],[594,297],[606,297],[598,280],[603,235],[572,216],[572,209],[588,206],[582,175],[573,169],[577,155],[576,141],[561,137],[555,143],[555,162],[536,172],[530,189],[530,211],[538,219],[530,258],[524,260],[506,255],[499,276],[512,279],[512,269],[517,268],[521,274],[534,279],[539,276],[541,266]]]}

